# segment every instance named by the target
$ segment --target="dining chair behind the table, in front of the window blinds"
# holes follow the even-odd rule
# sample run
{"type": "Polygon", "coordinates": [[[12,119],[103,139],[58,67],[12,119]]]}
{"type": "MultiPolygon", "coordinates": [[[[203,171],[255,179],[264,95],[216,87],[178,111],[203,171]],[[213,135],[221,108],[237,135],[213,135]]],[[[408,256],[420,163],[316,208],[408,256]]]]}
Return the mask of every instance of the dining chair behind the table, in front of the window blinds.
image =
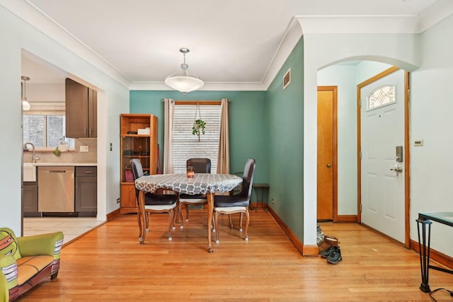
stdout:
{"type": "MultiPolygon", "coordinates": [[[[211,173],[211,160],[209,158],[189,158],[186,166],[192,166],[195,173],[211,173]]],[[[185,205],[185,221],[189,221],[189,207],[207,204],[205,194],[179,194],[178,215],[180,218],[180,228],[184,228],[182,207],[185,205]]]]}

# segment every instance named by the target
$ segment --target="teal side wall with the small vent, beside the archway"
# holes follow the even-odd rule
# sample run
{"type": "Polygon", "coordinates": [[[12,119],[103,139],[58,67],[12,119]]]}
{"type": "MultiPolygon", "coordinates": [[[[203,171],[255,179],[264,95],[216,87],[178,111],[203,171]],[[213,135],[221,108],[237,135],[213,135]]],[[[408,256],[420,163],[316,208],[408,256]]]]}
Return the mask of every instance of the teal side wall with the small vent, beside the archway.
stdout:
{"type": "Polygon", "coordinates": [[[269,206],[304,239],[304,40],[301,38],[268,88],[269,206]],[[291,83],[283,90],[283,76],[291,83]],[[270,200],[274,199],[274,204],[270,200]]]}

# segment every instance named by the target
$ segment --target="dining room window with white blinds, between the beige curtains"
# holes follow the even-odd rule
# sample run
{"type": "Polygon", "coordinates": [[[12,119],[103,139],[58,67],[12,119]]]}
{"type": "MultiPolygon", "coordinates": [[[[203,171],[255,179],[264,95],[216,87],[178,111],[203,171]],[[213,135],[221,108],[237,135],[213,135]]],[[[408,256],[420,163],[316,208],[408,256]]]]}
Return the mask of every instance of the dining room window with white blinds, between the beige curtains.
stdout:
{"type": "Polygon", "coordinates": [[[173,116],[173,169],[174,173],[185,173],[188,158],[210,158],[211,173],[217,171],[220,134],[220,102],[218,105],[205,105],[200,102],[200,116],[196,104],[175,104],[173,116]],[[196,120],[206,122],[205,134],[192,134],[196,120]]]}

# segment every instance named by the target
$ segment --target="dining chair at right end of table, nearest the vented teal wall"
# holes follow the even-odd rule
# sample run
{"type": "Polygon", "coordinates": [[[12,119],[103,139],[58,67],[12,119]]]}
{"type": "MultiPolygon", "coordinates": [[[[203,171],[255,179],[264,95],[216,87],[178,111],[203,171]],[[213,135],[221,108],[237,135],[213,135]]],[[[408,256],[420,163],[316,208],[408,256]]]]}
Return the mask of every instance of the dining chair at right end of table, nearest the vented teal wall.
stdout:
{"type": "Polygon", "coordinates": [[[252,194],[253,175],[255,174],[256,162],[253,158],[248,158],[243,170],[241,191],[232,195],[215,195],[214,196],[214,229],[217,233],[216,243],[219,243],[219,214],[228,214],[229,227],[234,228],[231,221],[231,214],[239,213],[239,231],[242,232],[243,214],[246,214],[245,240],[248,241],[248,223],[250,216],[248,214],[248,205],[252,194]]]}

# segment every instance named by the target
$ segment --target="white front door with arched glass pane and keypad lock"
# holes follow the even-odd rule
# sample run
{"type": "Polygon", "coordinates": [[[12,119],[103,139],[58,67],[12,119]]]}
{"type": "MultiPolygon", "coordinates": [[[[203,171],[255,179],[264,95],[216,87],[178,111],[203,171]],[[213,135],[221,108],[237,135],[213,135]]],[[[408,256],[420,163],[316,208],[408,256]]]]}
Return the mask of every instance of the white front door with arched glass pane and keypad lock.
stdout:
{"type": "Polygon", "coordinates": [[[404,71],[363,86],[360,97],[362,223],[404,243],[405,175],[397,171],[404,162],[396,158],[405,142],[404,71]]]}

